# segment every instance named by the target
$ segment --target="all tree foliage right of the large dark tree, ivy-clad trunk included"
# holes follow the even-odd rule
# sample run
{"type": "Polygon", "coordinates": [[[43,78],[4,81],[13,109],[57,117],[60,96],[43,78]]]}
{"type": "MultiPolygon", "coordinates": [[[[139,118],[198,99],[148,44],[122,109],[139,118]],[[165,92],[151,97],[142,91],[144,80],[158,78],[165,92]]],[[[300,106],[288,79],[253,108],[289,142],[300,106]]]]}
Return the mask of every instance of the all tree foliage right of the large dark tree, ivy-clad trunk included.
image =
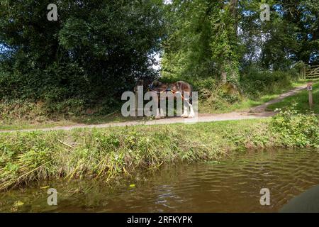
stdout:
{"type": "Polygon", "coordinates": [[[287,71],[296,62],[318,62],[318,3],[314,1],[173,1],[163,43],[162,75],[193,76],[237,85],[240,74],[287,71]],[[239,4],[238,4],[239,3],[239,4]],[[271,20],[260,21],[260,5],[271,20]]]}

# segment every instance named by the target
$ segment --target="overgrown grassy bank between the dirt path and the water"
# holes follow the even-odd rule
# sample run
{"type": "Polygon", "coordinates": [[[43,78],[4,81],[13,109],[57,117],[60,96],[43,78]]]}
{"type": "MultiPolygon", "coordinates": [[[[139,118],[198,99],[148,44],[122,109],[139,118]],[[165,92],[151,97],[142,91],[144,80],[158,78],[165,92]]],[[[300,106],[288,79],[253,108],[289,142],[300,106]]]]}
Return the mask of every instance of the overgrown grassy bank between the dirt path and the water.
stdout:
{"type": "Polygon", "coordinates": [[[0,189],[43,179],[111,182],[172,162],[217,160],[238,150],[319,148],[318,118],[224,121],[0,134],[0,189]]]}

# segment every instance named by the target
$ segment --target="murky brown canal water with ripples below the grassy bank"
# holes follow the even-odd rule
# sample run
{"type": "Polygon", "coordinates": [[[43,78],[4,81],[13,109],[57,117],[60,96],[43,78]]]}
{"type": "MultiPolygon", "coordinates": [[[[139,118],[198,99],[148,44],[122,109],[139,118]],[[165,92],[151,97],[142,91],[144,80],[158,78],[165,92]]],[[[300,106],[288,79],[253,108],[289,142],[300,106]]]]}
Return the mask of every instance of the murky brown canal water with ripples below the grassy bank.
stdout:
{"type": "Polygon", "coordinates": [[[276,212],[317,184],[319,150],[258,151],[169,165],[111,185],[88,179],[41,182],[0,193],[0,211],[276,212]],[[57,189],[57,206],[47,205],[48,188],[57,189]],[[260,204],[264,188],[269,206],[260,204]]]}

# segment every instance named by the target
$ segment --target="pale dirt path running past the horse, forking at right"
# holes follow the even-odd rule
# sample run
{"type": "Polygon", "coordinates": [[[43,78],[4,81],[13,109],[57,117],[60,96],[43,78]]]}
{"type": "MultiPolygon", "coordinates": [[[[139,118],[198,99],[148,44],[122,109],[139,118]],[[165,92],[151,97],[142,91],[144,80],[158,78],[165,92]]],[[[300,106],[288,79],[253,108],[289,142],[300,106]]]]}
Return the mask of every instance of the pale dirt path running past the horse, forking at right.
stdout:
{"type": "Polygon", "coordinates": [[[23,130],[13,130],[13,131],[0,131],[0,133],[14,132],[14,131],[56,131],[56,130],[72,130],[74,128],[107,128],[107,127],[123,127],[123,126],[137,126],[137,125],[161,125],[170,123],[197,123],[197,122],[211,122],[211,121],[231,121],[231,120],[244,120],[244,119],[254,119],[254,118],[267,118],[269,116],[274,116],[274,112],[266,111],[267,106],[274,104],[276,102],[285,99],[288,96],[292,96],[297,92],[306,89],[306,85],[301,87],[296,87],[295,89],[281,94],[278,98],[268,101],[265,104],[251,108],[248,111],[237,111],[225,114],[198,114],[197,118],[163,118],[153,121],[127,121],[121,123],[102,123],[99,125],[85,125],[79,124],[76,126],[58,126],[52,128],[39,128],[39,129],[23,129],[23,130]]]}

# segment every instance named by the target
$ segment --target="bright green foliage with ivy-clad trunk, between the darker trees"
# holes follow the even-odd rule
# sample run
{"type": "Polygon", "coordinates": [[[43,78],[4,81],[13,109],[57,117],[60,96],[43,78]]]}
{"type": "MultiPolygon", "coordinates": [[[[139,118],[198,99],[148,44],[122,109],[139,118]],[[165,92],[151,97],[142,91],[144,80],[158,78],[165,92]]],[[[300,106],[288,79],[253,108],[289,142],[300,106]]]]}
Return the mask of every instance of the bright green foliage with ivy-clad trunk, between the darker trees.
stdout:
{"type": "Polygon", "coordinates": [[[226,72],[238,78],[233,4],[218,1],[173,1],[167,6],[168,38],[164,41],[163,77],[213,77],[226,72]]]}

